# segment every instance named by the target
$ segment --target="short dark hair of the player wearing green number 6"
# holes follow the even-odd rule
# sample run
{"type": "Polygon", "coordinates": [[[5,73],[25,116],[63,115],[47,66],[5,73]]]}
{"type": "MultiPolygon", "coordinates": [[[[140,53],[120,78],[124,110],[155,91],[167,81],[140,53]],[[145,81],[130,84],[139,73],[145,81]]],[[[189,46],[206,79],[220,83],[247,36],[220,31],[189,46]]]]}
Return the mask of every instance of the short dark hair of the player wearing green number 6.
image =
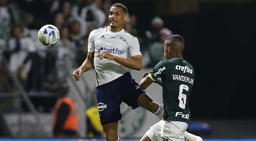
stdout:
{"type": "Polygon", "coordinates": [[[184,50],[184,38],[180,35],[168,36],[165,40],[167,47],[174,47],[177,52],[182,52],[184,50]]]}

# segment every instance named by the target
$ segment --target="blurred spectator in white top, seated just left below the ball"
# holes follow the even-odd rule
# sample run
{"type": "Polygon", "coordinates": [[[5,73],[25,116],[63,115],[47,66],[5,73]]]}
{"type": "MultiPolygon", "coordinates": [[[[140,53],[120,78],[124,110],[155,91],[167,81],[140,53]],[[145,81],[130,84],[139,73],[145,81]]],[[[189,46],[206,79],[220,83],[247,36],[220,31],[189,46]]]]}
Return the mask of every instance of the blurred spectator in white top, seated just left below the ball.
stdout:
{"type": "Polygon", "coordinates": [[[18,74],[22,81],[26,81],[36,51],[35,45],[30,37],[22,37],[23,28],[20,25],[12,27],[11,36],[9,48],[12,53],[9,60],[9,71],[18,74]]]}

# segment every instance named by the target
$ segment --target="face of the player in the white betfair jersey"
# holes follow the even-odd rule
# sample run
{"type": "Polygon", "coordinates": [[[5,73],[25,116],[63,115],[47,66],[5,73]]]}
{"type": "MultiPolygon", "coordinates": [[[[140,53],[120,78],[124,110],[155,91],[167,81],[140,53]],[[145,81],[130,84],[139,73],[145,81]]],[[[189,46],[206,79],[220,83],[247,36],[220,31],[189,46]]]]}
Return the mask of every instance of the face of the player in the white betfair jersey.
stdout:
{"type": "Polygon", "coordinates": [[[111,7],[109,9],[108,21],[111,28],[119,28],[124,26],[127,13],[122,11],[121,7],[111,7]]]}

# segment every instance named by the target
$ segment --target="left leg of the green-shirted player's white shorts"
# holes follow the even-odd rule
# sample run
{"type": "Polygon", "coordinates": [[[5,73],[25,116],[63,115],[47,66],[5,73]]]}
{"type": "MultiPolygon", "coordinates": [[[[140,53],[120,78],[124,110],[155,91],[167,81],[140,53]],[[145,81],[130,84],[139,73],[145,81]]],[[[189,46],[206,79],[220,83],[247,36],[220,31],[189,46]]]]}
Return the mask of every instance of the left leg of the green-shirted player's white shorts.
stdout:
{"type": "MultiPolygon", "coordinates": [[[[158,123],[154,124],[149,130],[145,133],[147,137],[151,141],[161,141],[161,124],[163,120],[159,121],[158,123]]],[[[143,138],[142,138],[143,139],[143,138]]],[[[145,137],[144,140],[146,141],[147,138],[145,137]]]]}

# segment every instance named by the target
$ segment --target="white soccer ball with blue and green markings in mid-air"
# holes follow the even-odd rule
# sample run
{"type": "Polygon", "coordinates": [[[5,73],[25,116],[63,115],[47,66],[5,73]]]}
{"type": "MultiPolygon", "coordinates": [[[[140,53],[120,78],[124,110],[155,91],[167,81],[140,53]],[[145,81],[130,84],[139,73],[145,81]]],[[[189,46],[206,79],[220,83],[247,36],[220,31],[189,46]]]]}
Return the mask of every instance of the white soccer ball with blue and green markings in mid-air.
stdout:
{"type": "Polygon", "coordinates": [[[39,41],[46,46],[52,46],[59,41],[59,29],[54,25],[44,25],[38,31],[39,41]]]}

